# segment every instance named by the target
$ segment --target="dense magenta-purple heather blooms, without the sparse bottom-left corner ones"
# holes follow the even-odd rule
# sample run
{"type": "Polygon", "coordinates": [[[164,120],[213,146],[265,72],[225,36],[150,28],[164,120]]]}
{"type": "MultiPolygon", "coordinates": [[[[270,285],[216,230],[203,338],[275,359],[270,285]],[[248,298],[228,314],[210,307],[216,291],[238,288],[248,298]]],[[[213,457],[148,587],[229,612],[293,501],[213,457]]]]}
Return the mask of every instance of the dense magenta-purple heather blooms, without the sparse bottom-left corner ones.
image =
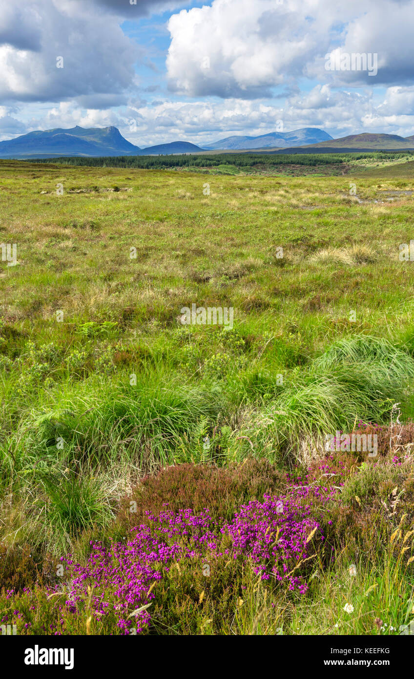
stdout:
{"type": "Polygon", "coordinates": [[[134,536],[128,543],[113,543],[109,548],[93,543],[86,566],[62,559],[75,576],[66,604],[76,612],[77,603],[88,600],[88,586],[92,586],[91,608],[96,619],[107,612],[111,593],[117,626],[128,634],[128,614],[135,610],[136,629],[143,631],[150,614],[142,607],[155,597],[151,585],[162,579],[171,564],[183,559],[211,562],[222,556],[250,559],[261,579],[286,581],[289,589],[304,593],[307,583],[298,569],[309,557],[313,536],[314,540],[324,540],[320,524],[312,517],[312,499],[326,502],[333,492],[292,484],[285,496],[248,502],[231,521],[212,519],[208,509],[197,515],[192,509],[165,509],[158,516],[147,511],[149,523],[132,528],[134,536]]]}

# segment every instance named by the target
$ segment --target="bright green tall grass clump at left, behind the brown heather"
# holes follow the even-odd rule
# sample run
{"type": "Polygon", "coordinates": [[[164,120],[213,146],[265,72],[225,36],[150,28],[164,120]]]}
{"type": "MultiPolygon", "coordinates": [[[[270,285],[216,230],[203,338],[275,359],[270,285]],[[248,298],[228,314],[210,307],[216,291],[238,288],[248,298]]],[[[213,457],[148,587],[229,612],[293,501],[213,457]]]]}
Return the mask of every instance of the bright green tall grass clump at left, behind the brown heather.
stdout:
{"type": "Polygon", "coordinates": [[[91,469],[128,460],[154,471],[173,464],[178,454],[183,458],[200,435],[200,422],[213,425],[223,407],[214,385],[180,384],[155,372],[150,378],[139,374],[132,382],[128,375],[113,382],[94,376],[83,384],[83,392],[56,390],[54,407],[22,422],[23,435],[11,441],[7,459],[26,468],[47,468],[58,460],[91,469]]]}

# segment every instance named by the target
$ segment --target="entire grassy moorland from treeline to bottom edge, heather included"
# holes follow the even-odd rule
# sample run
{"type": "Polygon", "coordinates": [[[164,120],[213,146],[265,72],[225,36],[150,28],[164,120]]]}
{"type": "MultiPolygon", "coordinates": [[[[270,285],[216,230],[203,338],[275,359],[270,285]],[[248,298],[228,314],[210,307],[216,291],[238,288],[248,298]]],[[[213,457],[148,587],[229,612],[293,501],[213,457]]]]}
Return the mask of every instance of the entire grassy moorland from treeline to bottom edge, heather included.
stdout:
{"type": "Polygon", "coordinates": [[[0,624],[407,630],[412,165],[0,162],[0,624]]]}

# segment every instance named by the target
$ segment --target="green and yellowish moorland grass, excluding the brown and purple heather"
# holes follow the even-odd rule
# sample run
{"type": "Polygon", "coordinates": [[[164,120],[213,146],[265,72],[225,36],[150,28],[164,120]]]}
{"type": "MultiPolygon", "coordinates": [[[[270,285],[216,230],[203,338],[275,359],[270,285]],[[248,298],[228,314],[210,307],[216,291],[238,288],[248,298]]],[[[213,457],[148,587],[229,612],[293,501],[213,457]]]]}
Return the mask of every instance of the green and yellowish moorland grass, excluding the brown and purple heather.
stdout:
{"type": "MultiPolygon", "coordinates": [[[[402,420],[413,418],[414,284],[411,263],[398,259],[398,245],[413,238],[413,198],[375,202],[381,191],[414,189],[411,164],[394,158],[373,170],[362,158],[343,176],[259,177],[239,175],[230,160],[212,168],[226,173],[215,176],[0,162],[0,242],[16,243],[18,260],[0,263],[0,548],[8,559],[0,585],[31,581],[62,552],[81,558],[91,534],[118,535],[120,503],[144,475],[198,463],[224,473],[250,458],[306,473],[325,435],[350,432],[357,420],[385,426],[394,403],[402,420]],[[183,327],[181,308],[193,303],[233,307],[233,329],[183,327]]],[[[395,474],[389,466],[371,479],[354,468],[344,501],[375,502],[369,489],[385,487],[387,504],[402,483],[395,474]]],[[[412,519],[406,493],[401,509],[412,519]]],[[[333,540],[345,549],[341,530],[339,521],[333,540]]],[[[306,604],[247,579],[238,581],[246,595],[231,625],[227,613],[219,625],[227,606],[219,593],[208,603],[213,625],[208,610],[199,616],[184,604],[164,622],[197,634],[281,626],[373,634],[371,606],[403,624],[412,565],[376,540],[366,538],[371,560],[352,581],[354,617],[339,605],[341,557],[316,568],[306,604]]],[[[346,549],[356,560],[361,547],[346,549]]],[[[74,633],[84,629],[78,623],[74,633]]]]}

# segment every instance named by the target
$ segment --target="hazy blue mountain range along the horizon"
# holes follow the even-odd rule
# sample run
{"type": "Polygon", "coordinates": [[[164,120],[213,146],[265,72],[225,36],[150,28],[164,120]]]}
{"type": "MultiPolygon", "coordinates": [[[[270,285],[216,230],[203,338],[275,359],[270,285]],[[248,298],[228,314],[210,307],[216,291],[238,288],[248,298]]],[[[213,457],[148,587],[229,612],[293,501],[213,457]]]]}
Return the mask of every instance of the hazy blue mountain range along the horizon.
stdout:
{"type": "Polygon", "coordinates": [[[113,126],[69,130],[38,130],[0,142],[0,158],[59,158],[61,156],[166,155],[203,151],[264,151],[265,153],[327,153],[328,151],[375,151],[414,149],[414,134],[350,134],[333,139],[319,128],[292,132],[268,132],[259,136],[229,136],[204,148],[187,141],[173,141],[141,149],[113,126]]]}

